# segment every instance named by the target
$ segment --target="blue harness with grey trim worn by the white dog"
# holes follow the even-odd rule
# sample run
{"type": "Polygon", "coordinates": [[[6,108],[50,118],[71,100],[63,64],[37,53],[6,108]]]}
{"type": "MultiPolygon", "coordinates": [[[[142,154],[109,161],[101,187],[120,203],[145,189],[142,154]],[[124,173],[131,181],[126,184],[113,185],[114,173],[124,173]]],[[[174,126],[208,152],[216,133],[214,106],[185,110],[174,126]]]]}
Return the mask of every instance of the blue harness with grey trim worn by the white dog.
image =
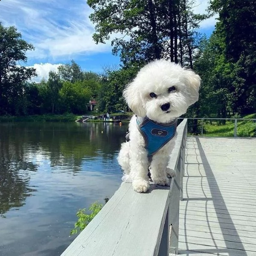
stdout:
{"type": "MultiPolygon", "coordinates": [[[[145,148],[148,156],[153,156],[157,151],[168,143],[175,135],[177,118],[170,123],[157,123],[147,117],[137,116],[137,128],[145,140],[145,148]]],[[[129,134],[126,135],[128,141],[129,134]]]]}

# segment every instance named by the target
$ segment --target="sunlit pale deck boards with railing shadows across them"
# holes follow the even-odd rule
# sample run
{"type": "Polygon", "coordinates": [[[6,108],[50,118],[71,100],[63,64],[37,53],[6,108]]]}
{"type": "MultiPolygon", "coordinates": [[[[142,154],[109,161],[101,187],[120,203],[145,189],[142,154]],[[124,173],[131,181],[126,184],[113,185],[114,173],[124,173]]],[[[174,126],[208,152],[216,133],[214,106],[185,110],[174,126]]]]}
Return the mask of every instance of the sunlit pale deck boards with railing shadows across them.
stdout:
{"type": "Polygon", "coordinates": [[[256,138],[188,137],[179,253],[256,256],[256,138]]]}

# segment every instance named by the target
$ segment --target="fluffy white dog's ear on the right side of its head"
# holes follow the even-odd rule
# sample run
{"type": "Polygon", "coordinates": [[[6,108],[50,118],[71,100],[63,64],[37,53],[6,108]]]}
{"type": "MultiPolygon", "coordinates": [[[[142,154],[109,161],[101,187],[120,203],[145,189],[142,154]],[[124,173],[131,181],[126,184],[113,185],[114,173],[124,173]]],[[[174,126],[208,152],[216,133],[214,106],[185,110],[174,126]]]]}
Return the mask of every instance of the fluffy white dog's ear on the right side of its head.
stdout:
{"type": "Polygon", "coordinates": [[[192,70],[185,70],[186,84],[190,90],[190,105],[198,101],[201,78],[192,70]]]}

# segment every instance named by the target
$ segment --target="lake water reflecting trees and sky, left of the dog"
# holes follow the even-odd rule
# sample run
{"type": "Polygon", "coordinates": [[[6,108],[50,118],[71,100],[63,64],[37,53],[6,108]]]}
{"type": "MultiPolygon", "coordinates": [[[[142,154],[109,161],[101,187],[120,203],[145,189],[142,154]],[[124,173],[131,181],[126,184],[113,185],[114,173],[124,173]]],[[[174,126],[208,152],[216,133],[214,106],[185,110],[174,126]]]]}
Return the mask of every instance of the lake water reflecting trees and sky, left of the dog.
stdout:
{"type": "Polygon", "coordinates": [[[0,123],[0,256],[58,256],[80,208],[121,184],[127,124],[0,123]]]}

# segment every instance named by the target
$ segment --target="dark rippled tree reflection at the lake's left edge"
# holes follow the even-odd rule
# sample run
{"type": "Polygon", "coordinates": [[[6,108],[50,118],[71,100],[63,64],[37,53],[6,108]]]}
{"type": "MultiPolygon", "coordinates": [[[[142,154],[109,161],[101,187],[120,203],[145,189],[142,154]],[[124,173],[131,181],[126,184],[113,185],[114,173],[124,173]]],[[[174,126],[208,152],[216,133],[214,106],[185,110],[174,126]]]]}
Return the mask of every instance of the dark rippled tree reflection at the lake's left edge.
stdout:
{"type": "Polygon", "coordinates": [[[9,209],[21,207],[26,197],[36,190],[29,187],[31,171],[37,166],[26,161],[22,137],[12,134],[12,126],[0,125],[0,215],[9,209]],[[10,136],[12,134],[12,136],[10,136]],[[20,143],[21,142],[21,143],[20,143]]]}

